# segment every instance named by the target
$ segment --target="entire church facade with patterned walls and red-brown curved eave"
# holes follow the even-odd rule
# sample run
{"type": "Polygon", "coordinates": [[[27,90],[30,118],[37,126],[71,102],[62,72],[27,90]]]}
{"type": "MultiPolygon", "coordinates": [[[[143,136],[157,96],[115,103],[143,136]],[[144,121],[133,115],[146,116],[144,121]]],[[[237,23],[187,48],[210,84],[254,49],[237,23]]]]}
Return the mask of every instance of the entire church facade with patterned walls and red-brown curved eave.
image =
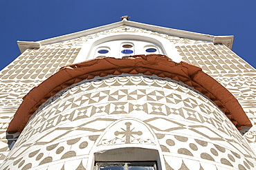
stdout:
{"type": "Polygon", "coordinates": [[[256,169],[256,70],[233,36],[122,21],[0,72],[0,169],[256,169]]]}

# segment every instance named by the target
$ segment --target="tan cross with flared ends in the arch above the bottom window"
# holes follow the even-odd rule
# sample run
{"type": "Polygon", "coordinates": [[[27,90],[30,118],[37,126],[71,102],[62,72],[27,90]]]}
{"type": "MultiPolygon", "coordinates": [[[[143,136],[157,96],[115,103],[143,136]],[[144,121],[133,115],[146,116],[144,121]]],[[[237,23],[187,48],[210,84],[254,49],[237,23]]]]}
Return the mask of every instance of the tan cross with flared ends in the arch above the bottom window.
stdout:
{"type": "MultiPolygon", "coordinates": [[[[142,131],[133,131],[134,129],[131,129],[131,123],[125,123],[126,125],[126,130],[122,129],[122,131],[116,131],[115,135],[118,136],[120,134],[123,134],[125,136],[125,143],[131,143],[131,136],[134,138],[133,135],[142,135],[142,131]]],[[[122,137],[124,137],[122,136],[122,137]]]]}

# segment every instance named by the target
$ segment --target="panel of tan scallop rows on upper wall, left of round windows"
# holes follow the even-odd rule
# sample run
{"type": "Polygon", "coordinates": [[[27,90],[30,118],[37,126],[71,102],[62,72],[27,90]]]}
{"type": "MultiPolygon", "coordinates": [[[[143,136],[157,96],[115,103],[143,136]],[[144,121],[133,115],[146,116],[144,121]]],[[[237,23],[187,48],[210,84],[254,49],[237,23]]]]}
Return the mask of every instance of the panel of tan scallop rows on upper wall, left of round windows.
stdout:
{"type": "Polygon", "coordinates": [[[1,79],[45,80],[60,67],[73,63],[80,48],[40,48],[26,50],[0,72],[1,79]]]}

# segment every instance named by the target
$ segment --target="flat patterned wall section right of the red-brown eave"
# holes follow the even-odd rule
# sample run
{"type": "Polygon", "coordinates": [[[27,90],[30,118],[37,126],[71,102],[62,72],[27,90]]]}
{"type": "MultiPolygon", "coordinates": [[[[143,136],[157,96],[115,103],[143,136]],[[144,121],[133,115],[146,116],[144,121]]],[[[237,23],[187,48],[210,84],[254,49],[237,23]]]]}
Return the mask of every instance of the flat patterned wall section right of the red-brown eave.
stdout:
{"type": "Polygon", "coordinates": [[[256,151],[256,70],[225,45],[176,46],[183,61],[199,66],[239,101],[253,127],[244,134],[256,151]]]}

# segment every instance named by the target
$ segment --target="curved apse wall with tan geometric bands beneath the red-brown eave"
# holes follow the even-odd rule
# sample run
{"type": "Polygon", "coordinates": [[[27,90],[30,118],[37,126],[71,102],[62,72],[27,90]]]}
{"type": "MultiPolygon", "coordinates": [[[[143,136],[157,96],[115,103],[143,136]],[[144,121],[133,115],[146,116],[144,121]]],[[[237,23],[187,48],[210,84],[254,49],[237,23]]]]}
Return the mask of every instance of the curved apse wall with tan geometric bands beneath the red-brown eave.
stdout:
{"type": "Polygon", "coordinates": [[[256,166],[248,142],[208,98],[169,78],[122,74],[82,81],[46,101],[1,168],[86,169],[93,146],[154,145],[134,118],[154,132],[167,169],[256,166]],[[96,143],[110,125],[115,130],[107,136],[113,138],[96,143]],[[134,133],[129,138],[127,129],[134,133]]]}

